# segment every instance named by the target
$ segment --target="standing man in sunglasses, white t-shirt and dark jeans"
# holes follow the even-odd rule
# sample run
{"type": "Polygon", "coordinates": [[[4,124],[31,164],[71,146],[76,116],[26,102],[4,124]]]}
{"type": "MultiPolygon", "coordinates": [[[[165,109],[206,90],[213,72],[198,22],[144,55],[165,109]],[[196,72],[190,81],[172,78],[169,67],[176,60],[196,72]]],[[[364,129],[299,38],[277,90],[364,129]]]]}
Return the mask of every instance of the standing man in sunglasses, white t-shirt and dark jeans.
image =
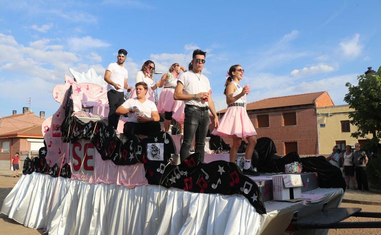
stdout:
{"type": "Polygon", "coordinates": [[[208,110],[214,117],[214,128],[217,129],[219,125],[209,80],[201,74],[205,64],[205,55],[205,51],[199,49],[193,51],[193,69],[180,75],[174,90],[173,98],[185,103],[184,139],[180,149],[181,161],[189,156],[193,137],[195,137],[195,151],[201,153],[202,160],[204,160],[205,138],[210,121],[208,110]]]}

